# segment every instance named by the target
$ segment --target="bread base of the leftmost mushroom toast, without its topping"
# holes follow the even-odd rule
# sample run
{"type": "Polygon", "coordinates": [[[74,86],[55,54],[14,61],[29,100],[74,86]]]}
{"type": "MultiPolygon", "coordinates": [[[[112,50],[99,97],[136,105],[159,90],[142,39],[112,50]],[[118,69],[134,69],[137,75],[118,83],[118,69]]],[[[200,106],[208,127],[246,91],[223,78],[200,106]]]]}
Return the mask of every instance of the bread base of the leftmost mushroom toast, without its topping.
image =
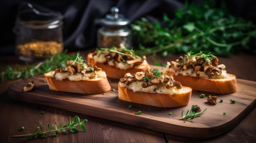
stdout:
{"type": "Polygon", "coordinates": [[[64,91],[82,94],[97,94],[110,91],[107,78],[96,78],[91,80],[71,81],[69,79],[56,80],[45,73],[45,78],[50,90],[64,91]]]}

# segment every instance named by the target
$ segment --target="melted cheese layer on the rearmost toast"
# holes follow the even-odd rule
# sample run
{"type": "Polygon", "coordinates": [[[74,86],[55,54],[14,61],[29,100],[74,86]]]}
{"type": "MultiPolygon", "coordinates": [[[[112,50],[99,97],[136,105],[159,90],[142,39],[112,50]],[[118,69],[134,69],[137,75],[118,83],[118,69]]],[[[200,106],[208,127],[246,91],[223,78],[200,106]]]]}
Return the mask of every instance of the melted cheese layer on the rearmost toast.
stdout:
{"type": "MultiPolygon", "coordinates": [[[[94,59],[95,63],[97,63],[97,62],[106,63],[106,58],[105,58],[104,54],[100,54],[99,56],[95,55],[95,56],[93,56],[93,59],[94,59]]],[[[119,69],[124,69],[124,70],[133,68],[132,64],[128,65],[127,63],[123,63],[123,62],[120,62],[117,65],[115,65],[113,63],[113,61],[108,61],[108,65],[115,66],[119,69]]],[[[140,65],[135,66],[134,68],[144,67],[145,65],[146,65],[146,60],[144,60],[143,63],[141,63],[140,65]]]]}

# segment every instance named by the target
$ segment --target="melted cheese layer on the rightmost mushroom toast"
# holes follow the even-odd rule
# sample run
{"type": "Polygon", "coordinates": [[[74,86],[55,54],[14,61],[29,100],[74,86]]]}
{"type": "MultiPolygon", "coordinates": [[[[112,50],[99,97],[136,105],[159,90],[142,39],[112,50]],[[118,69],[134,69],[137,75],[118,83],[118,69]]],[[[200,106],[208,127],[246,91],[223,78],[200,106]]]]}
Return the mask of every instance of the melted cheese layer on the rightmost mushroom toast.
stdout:
{"type": "MultiPolygon", "coordinates": [[[[175,71],[175,69],[171,68],[171,63],[167,62],[166,65],[166,70],[175,73],[175,76],[177,76],[178,74],[182,74],[182,76],[193,76],[193,77],[197,77],[197,75],[194,73],[192,73],[191,69],[186,69],[186,70],[181,70],[181,71],[175,71]],[[170,67],[170,68],[169,68],[170,67]]],[[[207,76],[207,74],[205,74],[204,72],[200,72],[199,73],[199,77],[200,78],[209,78],[209,76],[207,76]]],[[[223,79],[223,78],[228,78],[228,74],[227,71],[225,69],[221,70],[221,75],[219,76],[211,76],[209,79],[223,79]]]]}

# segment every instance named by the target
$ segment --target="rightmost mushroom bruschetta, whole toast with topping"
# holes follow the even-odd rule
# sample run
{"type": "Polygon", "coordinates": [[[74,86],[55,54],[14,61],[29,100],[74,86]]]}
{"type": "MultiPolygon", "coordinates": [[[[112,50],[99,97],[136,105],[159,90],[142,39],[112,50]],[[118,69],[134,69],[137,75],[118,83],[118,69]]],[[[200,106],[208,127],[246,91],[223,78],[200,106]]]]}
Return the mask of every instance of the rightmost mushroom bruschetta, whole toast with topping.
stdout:
{"type": "Polygon", "coordinates": [[[213,54],[186,53],[175,61],[167,62],[166,74],[182,85],[211,93],[235,93],[236,76],[227,74],[226,66],[219,64],[213,54]]]}

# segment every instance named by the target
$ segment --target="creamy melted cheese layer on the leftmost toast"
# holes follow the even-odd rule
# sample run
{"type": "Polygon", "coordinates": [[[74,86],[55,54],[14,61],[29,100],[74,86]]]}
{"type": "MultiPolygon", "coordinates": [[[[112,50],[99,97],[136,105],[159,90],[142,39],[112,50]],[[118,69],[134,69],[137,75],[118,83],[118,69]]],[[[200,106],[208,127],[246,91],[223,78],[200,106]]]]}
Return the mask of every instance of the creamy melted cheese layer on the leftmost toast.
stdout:
{"type": "Polygon", "coordinates": [[[54,76],[55,71],[47,73],[46,76],[54,77],[56,80],[63,80],[63,79],[69,79],[71,81],[80,81],[80,80],[94,80],[97,78],[106,78],[106,73],[104,71],[95,72],[96,75],[93,72],[85,73],[85,74],[79,74],[76,73],[72,75],[70,72],[63,72],[63,73],[57,73],[54,76]]]}

